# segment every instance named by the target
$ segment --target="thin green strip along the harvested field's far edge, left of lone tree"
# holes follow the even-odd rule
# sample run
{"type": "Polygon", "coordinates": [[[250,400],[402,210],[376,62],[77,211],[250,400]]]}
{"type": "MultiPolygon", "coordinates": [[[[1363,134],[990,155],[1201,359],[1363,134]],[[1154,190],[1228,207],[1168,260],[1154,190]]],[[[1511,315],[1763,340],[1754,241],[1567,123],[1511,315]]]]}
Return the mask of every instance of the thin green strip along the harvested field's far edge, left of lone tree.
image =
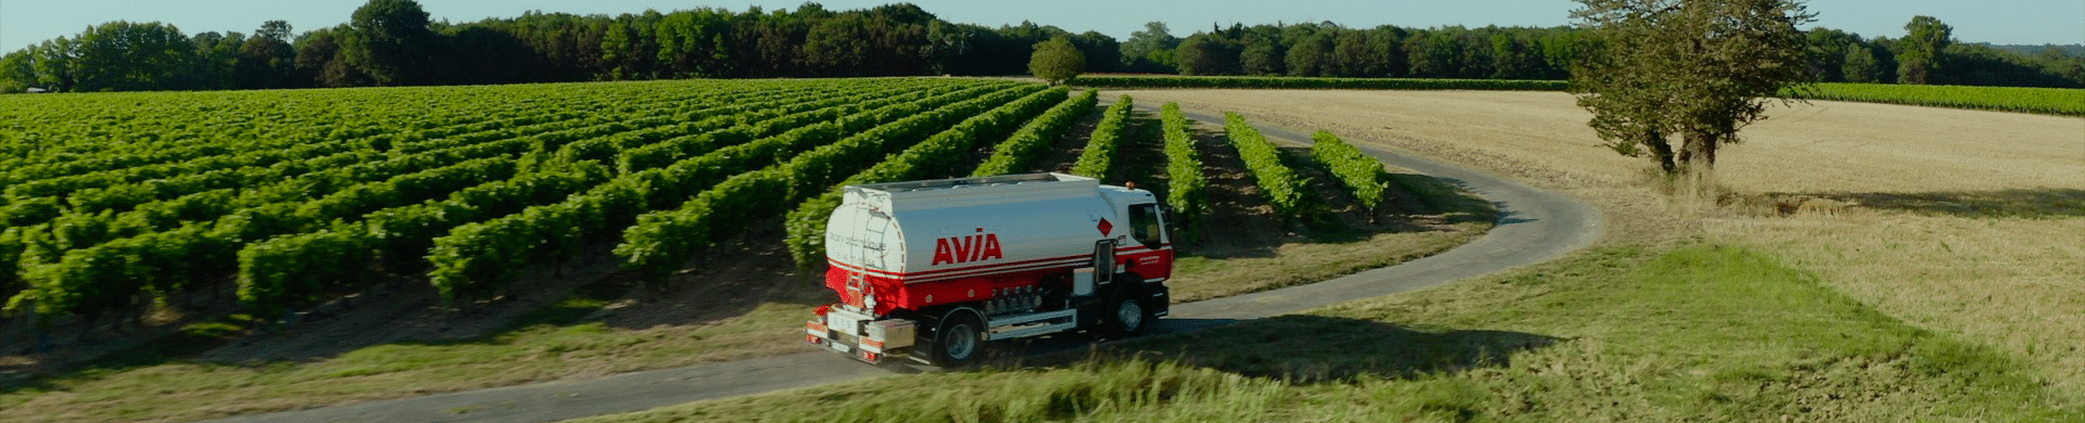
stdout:
{"type": "Polygon", "coordinates": [[[1564,81],[1391,77],[1080,77],[1084,88],[1268,88],[1268,90],[1520,90],[1562,92],[1564,81]]]}

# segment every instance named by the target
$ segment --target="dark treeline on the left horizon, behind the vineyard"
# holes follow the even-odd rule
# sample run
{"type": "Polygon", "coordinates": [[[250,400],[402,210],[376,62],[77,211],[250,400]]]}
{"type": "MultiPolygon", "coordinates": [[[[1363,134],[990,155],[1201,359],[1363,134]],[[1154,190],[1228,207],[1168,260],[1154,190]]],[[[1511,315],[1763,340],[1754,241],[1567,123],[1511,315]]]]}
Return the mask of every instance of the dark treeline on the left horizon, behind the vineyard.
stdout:
{"type": "Polygon", "coordinates": [[[638,15],[528,13],[477,23],[427,21],[411,0],[371,0],[352,21],[300,35],[183,35],[115,21],[0,58],[0,90],[136,92],[350,85],[463,85],[680,77],[1022,75],[1034,44],[1068,38],[1097,67],[1115,40],[1022,23],[940,21],[913,4],[638,15]]]}

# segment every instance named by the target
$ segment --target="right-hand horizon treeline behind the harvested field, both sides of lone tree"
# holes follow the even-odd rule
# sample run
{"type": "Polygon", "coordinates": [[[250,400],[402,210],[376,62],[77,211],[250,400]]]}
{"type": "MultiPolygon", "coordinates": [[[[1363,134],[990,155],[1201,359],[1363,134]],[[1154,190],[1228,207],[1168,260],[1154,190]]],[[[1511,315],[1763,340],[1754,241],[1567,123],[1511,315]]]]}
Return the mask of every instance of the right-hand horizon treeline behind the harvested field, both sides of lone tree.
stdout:
{"type": "MultiPolygon", "coordinates": [[[[1816,81],[2085,88],[2085,56],[2041,50],[2033,56],[1987,44],[1958,44],[1931,17],[1908,35],[1862,38],[1839,29],[1808,31],[1816,81]]],[[[1374,27],[1336,23],[1211,27],[1184,40],[1163,23],[1122,42],[1126,67],[1184,75],[1289,77],[1449,77],[1566,79],[1589,50],[1578,27],[1374,27]]]]}

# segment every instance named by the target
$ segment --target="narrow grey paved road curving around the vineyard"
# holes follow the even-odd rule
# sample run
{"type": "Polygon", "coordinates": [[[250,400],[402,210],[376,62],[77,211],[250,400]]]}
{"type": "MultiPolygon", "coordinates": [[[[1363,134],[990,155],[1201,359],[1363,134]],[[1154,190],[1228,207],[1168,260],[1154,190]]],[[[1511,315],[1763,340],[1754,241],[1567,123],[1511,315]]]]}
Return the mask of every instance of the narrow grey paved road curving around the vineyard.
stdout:
{"type": "MultiPolygon", "coordinates": [[[[1140,106],[1157,113],[1153,106],[1140,106]]],[[[1188,119],[1222,125],[1222,117],[1188,119]]],[[[1261,127],[1270,140],[1307,144],[1309,133],[1261,127]]],[[[1364,271],[1311,285],[1230,296],[1218,300],[1174,304],[1170,319],[1153,325],[1155,333],[1201,329],[1238,319],[1259,319],[1307,310],[1353,298],[1409,292],[1464,277],[1543,263],[1564,252],[1589,246],[1601,233],[1599,210],[1574,198],[1535,190],[1480,171],[1401,156],[1389,150],[1355,144],[1378,160],[1457,181],[1499,206],[1499,225],[1489,233],[1434,256],[1395,267],[1364,271]]],[[[1038,342],[1030,350],[1076,348],[1070,342],[1038,342]]],[[[809,348],[807,348],[809,350],[809,348]]],[[[790,388],[865,377],[890,377],[917,371],[913,367],[869,367],[832,352],[751,358],[663,371],[638,371],[580,381],[548,381],[473,392],[452,392],[400,400],[375,400],[346,406],[250,415],[223,419],[252,423],[306,421],[500,421],[534,423],[592,415],[646,410],[694,400],[715,400],[790,388]]]]}

